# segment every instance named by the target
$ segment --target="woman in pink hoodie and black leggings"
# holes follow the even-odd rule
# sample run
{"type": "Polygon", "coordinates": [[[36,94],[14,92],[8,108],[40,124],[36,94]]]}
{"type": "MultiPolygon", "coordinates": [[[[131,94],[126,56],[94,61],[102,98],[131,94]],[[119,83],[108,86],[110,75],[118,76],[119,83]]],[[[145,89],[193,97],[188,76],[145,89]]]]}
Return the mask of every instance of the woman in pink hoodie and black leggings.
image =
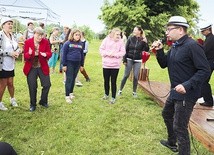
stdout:
{"type": "Polygon", "coordinates": [[[100,54],[102,56],[103,77],[105,95],[104,100],[109,97],[110,79],[112,99],[110,104],[115,103],[116,91],[117,91],[117,76],[123,56],[125,55],[125,45],[120,36],[121,30],[114,28],[111,33],[102,41],[100,46],[100,54]]]}

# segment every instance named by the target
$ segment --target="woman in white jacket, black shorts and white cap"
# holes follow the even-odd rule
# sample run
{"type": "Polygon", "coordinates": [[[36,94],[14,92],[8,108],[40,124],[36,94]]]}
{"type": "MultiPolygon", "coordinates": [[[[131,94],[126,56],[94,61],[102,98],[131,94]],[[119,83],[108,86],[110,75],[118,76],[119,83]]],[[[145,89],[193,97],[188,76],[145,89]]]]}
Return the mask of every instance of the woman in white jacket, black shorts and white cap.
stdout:
{"type": "Polygon", "coordinates": [[[0,31],[0,110],[7,110],[2,102],[6,87],[10,94],[12,106],[18,106],[14,98],[13,77],[15,58],[19,56],[18,43],[12,35],[13,21],[10,18],[1,20],[2,31],[0,31]]]}

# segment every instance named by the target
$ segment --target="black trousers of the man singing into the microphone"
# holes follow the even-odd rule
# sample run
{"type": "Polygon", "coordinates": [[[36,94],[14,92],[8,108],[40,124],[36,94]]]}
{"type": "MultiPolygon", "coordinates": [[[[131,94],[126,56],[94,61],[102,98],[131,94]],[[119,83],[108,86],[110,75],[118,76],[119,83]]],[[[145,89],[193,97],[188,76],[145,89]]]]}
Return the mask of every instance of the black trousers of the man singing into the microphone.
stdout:
{"type": "Polygon", "coordinates": [[[162,116],[167,127],[168,142],[178,142],[179,155],[190,155],[188,124],[195,102],[167,99],[162,116]]]}

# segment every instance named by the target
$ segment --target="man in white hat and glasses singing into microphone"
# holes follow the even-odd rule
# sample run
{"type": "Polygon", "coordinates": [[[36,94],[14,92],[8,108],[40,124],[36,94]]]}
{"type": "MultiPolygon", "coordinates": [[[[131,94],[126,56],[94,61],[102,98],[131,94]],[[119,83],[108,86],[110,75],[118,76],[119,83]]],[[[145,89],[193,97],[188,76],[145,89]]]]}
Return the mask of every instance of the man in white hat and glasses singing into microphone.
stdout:
{"type": "Polygon", "coordinates": [[[190,155],[188,123],[201,85],[210,75],[204,50],[187,35],[188,27],[184,17],[173,16],[166,27],[166,37],[174,42],[171,49],[165,54],[160,41],[152,44],[159,65],[168,68],[171,83],[170,95],[162,111],[168,139],[160,143],[173,152],[178,151],[179,155],[190,155]]]}

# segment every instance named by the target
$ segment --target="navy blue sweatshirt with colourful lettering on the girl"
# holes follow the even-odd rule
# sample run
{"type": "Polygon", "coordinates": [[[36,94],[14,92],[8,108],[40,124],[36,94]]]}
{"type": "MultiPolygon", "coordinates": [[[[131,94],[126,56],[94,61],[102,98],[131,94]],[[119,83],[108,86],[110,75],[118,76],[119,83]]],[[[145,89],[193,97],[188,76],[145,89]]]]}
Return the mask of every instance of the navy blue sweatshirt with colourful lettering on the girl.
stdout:
{"type": "Polygon", "coordinates": [[[83,43],[81,41],[66,41],[62,48],[62,64],[67,66],[68,61],[80,63],[83,66],[83,43]]]}

